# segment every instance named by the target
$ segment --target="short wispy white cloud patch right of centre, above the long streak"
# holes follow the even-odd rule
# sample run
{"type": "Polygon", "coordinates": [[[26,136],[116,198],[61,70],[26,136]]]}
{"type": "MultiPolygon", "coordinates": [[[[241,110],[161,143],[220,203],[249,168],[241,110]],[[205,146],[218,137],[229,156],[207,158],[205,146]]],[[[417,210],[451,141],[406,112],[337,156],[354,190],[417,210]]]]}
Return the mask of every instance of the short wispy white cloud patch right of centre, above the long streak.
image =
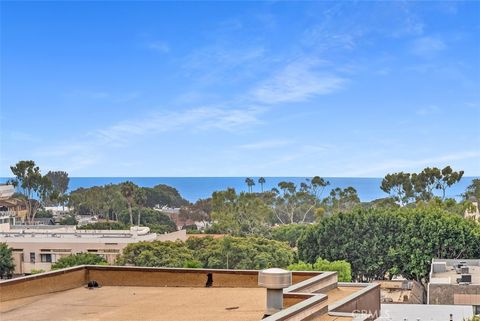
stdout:
{"type": "Polygon", "coordinates": [[[346,80],[318,70],[322,63],[301,59],[287,64],[253,90],[254,100],[264,104],[301,102],[341,89],[346,80]]]}

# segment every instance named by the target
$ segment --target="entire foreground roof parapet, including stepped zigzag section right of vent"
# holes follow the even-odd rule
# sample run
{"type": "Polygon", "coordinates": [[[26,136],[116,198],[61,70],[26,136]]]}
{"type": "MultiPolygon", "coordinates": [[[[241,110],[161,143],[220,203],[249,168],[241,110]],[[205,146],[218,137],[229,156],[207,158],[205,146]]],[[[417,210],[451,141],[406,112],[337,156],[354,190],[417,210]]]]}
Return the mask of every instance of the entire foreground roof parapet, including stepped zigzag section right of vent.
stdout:
{"type": "MultiPolygon", "coordinates": [[[[104,286],[257,288],[258,271],[149,268],[128,266],[79,266],[0,282],[0,302],[64,291],[95,280],[104,286]]],[[[338,283],[335,272],[292,272],[293,285],[284,289],[285,309],[265,320],[305,320],[335,313],[380,313],[378,284],[338,283]],[[328,305],[328,292],[337,286],[356,287],[355,293],[328,305]]],[[[365,319],[367,320],[367,319],[365,319]]],[[[373,320],[370,318],[368,320],[373,320]]]]}

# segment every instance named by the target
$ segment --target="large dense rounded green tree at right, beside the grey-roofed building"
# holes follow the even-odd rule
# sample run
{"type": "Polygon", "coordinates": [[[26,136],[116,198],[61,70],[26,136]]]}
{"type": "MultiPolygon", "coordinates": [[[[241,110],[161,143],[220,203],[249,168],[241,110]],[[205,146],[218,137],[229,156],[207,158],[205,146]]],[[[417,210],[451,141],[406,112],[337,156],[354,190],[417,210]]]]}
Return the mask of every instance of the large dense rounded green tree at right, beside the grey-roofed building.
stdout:
{"type": "Polygon", "coordinates": [[[346,260],[356,281],[428,280],[432,258],[480,257],[480,225],[439,208],[358,209],[308,228],[299,258],[346,260]]]}

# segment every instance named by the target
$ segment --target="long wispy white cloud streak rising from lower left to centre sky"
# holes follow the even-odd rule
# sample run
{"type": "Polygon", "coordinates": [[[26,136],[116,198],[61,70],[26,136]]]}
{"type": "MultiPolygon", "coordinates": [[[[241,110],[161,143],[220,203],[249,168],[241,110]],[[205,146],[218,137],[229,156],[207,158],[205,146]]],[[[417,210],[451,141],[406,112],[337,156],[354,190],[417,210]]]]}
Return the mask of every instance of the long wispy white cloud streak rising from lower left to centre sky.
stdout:
{"type": "Polygon", "coordinates": [[[87,133],[84,137],[37,150],[36,156],[47,162],[62,159],[64,167],[75,174],[84,168],[94,166],[112,148],[125,148],[136,141],[152,135],[176,130],[220,130],[241,132],[261,123],[258,116],[264,109],[226,109],[202,107],[181,112],[145,115],[136,120],[118,122],[109,127],[87,133]]]}

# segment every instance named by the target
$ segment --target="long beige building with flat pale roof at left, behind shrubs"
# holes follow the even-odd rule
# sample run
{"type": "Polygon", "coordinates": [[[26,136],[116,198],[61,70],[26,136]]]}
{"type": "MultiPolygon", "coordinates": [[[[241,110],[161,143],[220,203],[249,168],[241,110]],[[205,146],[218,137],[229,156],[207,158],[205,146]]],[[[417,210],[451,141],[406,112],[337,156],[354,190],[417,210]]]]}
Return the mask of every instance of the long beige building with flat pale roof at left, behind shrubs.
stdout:
{"type": "Polygon", "coordinates": [[[186,240],[186,231],[168,234],[150,233],[148,227],[130,230],[77,230],[75,226],[12,226],[0,218],[0,242],[13,249],[15,274],[32,270],[49,271],[61,257],[77,253],[95,253],[113,264],[130,243],[140,241],[186,240]],[[2,223],[3,222],[3,223],[2,223]]]}

